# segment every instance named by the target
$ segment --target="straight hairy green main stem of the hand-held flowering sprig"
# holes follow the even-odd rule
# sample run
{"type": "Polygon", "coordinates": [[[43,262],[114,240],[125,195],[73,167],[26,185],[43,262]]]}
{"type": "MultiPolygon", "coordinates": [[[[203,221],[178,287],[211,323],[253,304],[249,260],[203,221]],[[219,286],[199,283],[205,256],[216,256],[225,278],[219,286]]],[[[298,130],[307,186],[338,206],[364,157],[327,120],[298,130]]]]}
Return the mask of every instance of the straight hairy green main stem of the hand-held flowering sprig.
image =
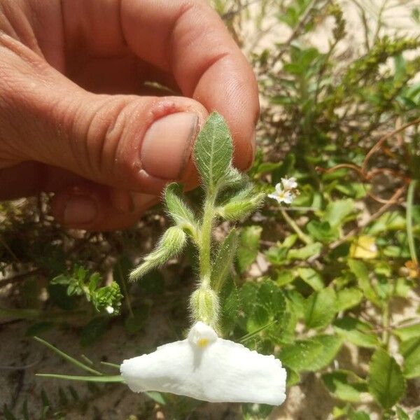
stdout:
{"type": "Polygon", "coordinates": [[[200,283],[209,286],[211,276],[211,228],[213,228],[214,200],[216,193],[208,193],[204,202],[203,221],[200,232],[200,283]]]}

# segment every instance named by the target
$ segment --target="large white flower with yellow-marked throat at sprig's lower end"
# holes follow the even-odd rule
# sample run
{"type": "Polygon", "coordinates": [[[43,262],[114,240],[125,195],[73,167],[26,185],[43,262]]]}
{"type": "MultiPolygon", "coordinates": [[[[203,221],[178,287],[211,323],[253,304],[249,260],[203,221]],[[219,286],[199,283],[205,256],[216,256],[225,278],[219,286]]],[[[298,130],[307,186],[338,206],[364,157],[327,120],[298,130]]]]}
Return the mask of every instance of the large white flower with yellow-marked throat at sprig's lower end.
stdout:
{"type": "Polygon", "coordinates": [[[124,360],[120,370],[134,392],[271,405],[280,405],[286,398],[286,370],[279,359],[222,339],[202,322],[193,325],[187,339],[124,360]]]}

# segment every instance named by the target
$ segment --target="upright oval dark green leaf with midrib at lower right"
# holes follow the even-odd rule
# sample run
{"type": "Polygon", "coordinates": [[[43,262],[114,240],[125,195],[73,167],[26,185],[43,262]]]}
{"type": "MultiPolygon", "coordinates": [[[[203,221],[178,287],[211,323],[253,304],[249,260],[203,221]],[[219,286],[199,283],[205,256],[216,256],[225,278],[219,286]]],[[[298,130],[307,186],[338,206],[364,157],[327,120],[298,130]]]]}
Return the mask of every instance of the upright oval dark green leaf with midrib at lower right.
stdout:
{"type": "Polygon", "coordinates": [[[368,386],[384,409],[390,409],[404,395],[405,379],[400,366],[384,349],[377,349],[370,360],[368,386]]]}

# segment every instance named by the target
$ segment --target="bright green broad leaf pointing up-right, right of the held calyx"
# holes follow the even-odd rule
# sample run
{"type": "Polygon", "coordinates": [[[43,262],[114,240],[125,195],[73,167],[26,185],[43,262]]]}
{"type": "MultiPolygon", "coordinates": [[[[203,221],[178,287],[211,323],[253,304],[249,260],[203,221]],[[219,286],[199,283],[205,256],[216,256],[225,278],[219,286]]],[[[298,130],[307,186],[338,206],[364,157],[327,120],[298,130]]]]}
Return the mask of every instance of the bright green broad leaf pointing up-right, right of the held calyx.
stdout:
{"type": "Polygon", "coordinates": [[[327,287],[312,293],[305,302],[304,320],[307,328],[325,328],[334,319],[335,290],[327,287]]]}

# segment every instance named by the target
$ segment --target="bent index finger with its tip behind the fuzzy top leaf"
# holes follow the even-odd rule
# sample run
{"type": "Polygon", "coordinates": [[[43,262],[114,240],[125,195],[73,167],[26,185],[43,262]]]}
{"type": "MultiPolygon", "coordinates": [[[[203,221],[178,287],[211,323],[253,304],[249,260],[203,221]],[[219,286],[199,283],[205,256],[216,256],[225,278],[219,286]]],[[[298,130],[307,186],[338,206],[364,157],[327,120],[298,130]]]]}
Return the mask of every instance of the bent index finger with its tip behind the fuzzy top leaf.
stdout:
{"type": "Polygon", "coordinates": [[[235,165],[253,160],[259,113],[251,66],[204,1],[123,0],[121,27],[136,55],[169,71],[181,92],[228,121],[235,141],[235,165]]]}

